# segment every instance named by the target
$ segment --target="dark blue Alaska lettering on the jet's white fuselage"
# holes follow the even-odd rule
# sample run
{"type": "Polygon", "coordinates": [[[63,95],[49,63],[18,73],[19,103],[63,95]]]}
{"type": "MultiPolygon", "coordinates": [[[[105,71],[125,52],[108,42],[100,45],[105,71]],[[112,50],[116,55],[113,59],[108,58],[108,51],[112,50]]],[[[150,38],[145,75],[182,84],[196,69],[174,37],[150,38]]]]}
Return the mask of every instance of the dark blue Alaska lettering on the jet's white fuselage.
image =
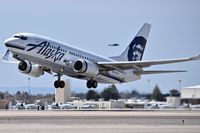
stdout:
{"type": "Polygon", "coordinates": [[[65,53],[61,52],[60,46],[58,46],[57,48],[52,48],[50,46],[50,42],[47,42],[47,41],[44,41],[39,44],[29,43],[26,46],[30,47],[26,51],[32,51],[36,48],[39,48],[36,54],[40,54],[44,56],[45,59],[51,58],[53,59],[54,62],[60,61],[65,55],[65,53]]]}

